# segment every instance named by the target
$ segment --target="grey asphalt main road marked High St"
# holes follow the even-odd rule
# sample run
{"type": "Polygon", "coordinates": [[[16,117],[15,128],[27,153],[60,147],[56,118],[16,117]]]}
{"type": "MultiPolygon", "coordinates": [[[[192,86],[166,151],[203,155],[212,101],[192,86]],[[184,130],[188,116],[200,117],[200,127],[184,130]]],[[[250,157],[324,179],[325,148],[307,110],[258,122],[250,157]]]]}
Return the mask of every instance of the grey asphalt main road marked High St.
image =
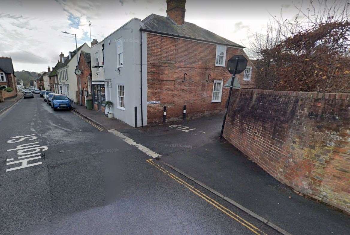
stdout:
{"type": "Polygon", "coordinates": [[[0,234],[278,234],[38,95],[0,123],[0,234]]]}

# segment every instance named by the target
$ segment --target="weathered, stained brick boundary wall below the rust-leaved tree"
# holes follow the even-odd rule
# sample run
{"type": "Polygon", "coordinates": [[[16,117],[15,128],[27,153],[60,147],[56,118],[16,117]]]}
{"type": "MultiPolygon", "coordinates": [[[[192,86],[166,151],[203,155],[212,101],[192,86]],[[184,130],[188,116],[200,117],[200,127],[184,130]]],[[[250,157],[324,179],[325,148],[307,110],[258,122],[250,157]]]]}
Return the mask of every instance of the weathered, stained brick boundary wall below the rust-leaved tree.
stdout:
{"type": "Polygon", "coordinates": [[[279,181],[350,212],[350,94],[239,89],[224,137],[279,181]]]}

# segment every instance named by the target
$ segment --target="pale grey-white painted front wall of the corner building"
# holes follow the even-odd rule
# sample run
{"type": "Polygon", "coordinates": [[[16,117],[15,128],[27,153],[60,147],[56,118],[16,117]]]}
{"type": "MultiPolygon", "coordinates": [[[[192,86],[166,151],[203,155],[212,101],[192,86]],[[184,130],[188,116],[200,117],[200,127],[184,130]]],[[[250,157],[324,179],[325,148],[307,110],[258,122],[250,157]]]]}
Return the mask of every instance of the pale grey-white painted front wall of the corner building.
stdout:
{"type": "MultiPolygon", "coordinates": [[[[104,72],[105,80],[110,79],[111,101],[114,117],[134,126],[134,107],[137,107],[138,126],[141,126],[141,46],[140,46],[140,19],[132,19],[121,28],[114,31],[104,39],[104,72]],[[117,40],[123,38],[123,60],[124,65],[120,67],[120,74],[117,72],[117,40]],[[118,84],[124,84],[125,89],[125,110],[118,109],[118,84]]],[[[146,46],[143,44],[143,47],[146,46]]],[[[147,59],[147,48],[144,47],[143,59],[147,59]],[[146,56],[146,57],[145,57],[146,56]]],[[[143,74],[147,74],[146,59],[143,61],[143,74]]],[[[143,76],[143,125],[147,124],[147,77],[143,76]]],[[[106,88],[107,89],[107,88],[106,88]]]]}

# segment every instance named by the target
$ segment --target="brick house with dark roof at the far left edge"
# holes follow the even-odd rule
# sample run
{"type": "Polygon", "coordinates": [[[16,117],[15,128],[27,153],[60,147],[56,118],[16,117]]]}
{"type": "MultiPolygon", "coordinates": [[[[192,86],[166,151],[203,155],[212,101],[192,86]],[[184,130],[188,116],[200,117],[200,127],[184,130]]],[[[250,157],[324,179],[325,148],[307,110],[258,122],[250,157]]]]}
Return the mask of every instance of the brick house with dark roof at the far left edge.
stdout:
{"type": "Polygon", "coordinates": [[[12,59],[10,57],[0,57],[0,86],[2,88],[10,87],[11,92],[3,91],[4,99],[15,97],[17,95],[17,82],[13,69],[12,59]]]}

